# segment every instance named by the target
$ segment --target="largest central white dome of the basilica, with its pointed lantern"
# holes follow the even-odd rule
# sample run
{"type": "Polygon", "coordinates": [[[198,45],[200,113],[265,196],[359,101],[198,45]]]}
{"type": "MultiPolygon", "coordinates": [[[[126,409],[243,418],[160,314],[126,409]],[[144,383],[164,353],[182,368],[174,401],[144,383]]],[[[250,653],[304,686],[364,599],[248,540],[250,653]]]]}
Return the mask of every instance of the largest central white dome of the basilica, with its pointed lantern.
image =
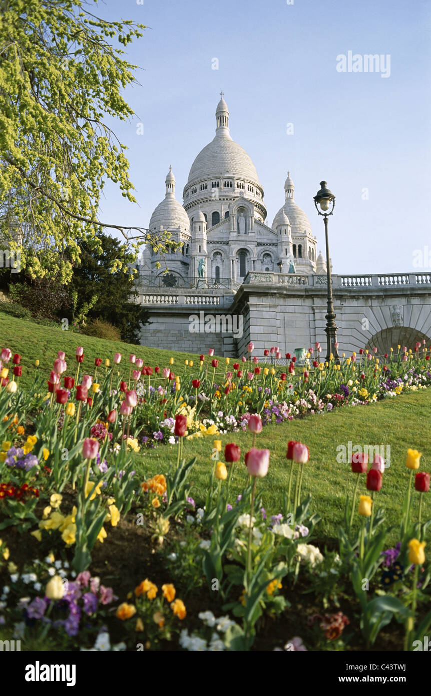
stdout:
{"type": "Polygon", "coordinates": [[[221,97],[216,111],[217,129],[214,140],[199,152],[191,165],[189,184],[209,177],[235,176],[260,184],[256,167],[244,148],[230,137],[228,128],[229,111],[221,97]]]}

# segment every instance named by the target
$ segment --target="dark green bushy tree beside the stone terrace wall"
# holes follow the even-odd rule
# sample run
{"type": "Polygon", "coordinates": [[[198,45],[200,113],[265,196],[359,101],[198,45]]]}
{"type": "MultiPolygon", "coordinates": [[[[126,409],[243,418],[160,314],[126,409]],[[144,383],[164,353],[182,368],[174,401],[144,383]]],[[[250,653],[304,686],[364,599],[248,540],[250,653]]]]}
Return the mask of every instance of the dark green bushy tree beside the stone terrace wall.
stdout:
{"type": "Polygon", "coordinates": [[[81,260],[73,268],[69,285],[75,309],[63,316],[72,322],[83,314],[87,320],[103,319],[117,326],[122,340],[139,343],[141,326],[148,323],[148,311],[133,301],[138,293],[127,267],[134,255],[118,239],[103,233],[99,239],[101,251],[95,251],[87,242],[80,244],[81,260]]]}

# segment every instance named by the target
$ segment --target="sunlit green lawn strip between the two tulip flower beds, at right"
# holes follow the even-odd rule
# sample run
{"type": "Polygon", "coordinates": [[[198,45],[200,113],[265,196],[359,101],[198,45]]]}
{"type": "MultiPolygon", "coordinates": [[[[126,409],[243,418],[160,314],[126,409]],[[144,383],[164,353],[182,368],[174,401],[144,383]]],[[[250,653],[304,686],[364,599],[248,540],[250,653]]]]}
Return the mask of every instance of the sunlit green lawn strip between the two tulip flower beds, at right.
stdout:
{"type": "MultiPolygon", "coordinates": [[[[304,471],[303,493],[311,493],[313,500],[311,512],[318,512],[322,522],[316,529],[318,539],[331,541],[336,539],[338,524],[343,519],[347,493],[352,495],[356,475],[352,473],[350,464],[339,464],[337,461],[337,446],[352,442],[352,445],[389,445],[391,464],[385,470],[382,489],[375,493],[377,505],[386,509],[387,525],[395,526],[390,539],[395,544],[398,541],[398,525],[402,500],[407,490],[409,469],[405,466],[408,448],[423,452],[421,470],[431,469],[431,390],[406,393],[393,399],[387,398],[377,404],[368,406],[350,406],[336,409],[331,413],[322,413],[292,420],[281,425],[264,427],[256,438],[258,448],[268,448],[271,452],[269,473],[265,479],[258,482],[263,493],[263,502],[267,514],[281,512],[283,491],[287,490],[290,462],[285,459],[288,440],[300,440],[310,449],[310,462],[304,471]]],[[[235,442],[240,445],[242,454],[252,445],[253,436],[249,433],[229,433],[220,438],[224,445],[235,442]]],[[[212,466],[210,454],[214,438],[198,438],[185,441],[187,457],[196,455],[197,461],[192,479],[191,489],[196,503],[205,500],[208,472],[212,466]]],[[[176,461],[176,446],[159,445],[152,450],[146,450],[143,457],[136,455],[136,469],[143,477],[155,473],[166,472],[171,461],[176,461]]],[[[244,461],[244,460],[243,460],[244,461]]],[[[243,464],[235,465],[231,484],[232,497],[230,503],[235,503],[237,494],[246,480],[243,464]]],[[[359,494],[368,493],[366,477],[361,476],[359,494]]],[[[418,510],[418,493],[414,493],[414,515],[418,510]]],[[[423,520],[431,516],[431,494],[423,496],[423,520]]],[[[359,521],[359,520],[358,520],[359,521]]]]}

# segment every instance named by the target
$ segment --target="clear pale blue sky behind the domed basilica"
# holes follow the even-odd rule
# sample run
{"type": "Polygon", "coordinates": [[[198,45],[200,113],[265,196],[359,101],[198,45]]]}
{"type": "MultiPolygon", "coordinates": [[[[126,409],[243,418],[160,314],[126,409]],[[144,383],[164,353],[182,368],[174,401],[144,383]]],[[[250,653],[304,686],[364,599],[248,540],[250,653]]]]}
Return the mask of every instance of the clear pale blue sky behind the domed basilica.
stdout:
{"type": "Polygon", "coordinates": [[[125,93],[136,117],[115,127],[139,206],[109,184],[100,219],[148,226],[170,164],[182,202],[224,90],[230,134],[253,159],[269,225],[290,169],[323,252],[313,196],[322,179],[336,195],[335,273],[414,272],[414,251],[431,253],[430,0],[106,0],[91,10],[148,26],[127,47],[141,68],[140,86],[125,93]],[[389,54],[390,77],[338,72],[337,56],[349,51],[389,54]]]}

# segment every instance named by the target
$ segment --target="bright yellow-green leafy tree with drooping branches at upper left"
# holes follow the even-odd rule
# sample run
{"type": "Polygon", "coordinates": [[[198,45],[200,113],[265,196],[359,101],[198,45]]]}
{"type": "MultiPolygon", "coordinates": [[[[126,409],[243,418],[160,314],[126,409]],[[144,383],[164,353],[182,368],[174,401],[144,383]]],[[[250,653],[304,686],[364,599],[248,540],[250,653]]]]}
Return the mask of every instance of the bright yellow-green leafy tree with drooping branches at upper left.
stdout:
{"type": "Polygon", "coordinates": [[[136,66],[120,47],[141,37],[145,26],[107,22],[90,6],[0,0],[0,238],[19,249],[31,277],[61,283],[79,262],[80,242],[100,251],[103,228],[120,230],[135,254],[143,242],[164,251],[145,228],[109,225],[97,216],[108,179],[136,202],[126,146],[105,120],[134,113],[121,91],[136,81],[136,66]]]}

